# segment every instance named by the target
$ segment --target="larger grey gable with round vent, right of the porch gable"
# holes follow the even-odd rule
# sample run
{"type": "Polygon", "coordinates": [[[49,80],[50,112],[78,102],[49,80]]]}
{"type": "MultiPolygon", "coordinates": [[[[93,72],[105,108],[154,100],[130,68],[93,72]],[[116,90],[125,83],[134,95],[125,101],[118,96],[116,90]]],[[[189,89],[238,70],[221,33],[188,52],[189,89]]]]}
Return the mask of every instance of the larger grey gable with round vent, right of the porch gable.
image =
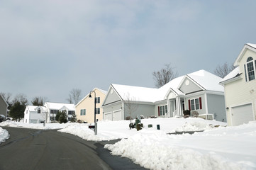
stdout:
{"type": "Polygon", "coordinates": [[[184,94],[190,94],[196,91],[201,91],[202,89],[197,84],[195,84],[194,81],[186,77],[182,81],[179,90],[182,91],[184,94]]]}

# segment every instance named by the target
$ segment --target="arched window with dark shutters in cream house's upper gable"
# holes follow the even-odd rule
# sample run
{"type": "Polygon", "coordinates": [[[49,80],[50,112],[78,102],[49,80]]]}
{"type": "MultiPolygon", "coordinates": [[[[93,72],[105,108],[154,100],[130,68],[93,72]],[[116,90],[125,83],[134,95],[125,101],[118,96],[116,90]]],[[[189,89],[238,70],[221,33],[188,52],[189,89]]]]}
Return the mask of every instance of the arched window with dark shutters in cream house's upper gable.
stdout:
{"type": "Polygon", "coordinates": [[[255,79],[256,60],[254,63],[253,58],[248,57],[244,67],[245,67],[245,81],[254,80],[255,79]]]}

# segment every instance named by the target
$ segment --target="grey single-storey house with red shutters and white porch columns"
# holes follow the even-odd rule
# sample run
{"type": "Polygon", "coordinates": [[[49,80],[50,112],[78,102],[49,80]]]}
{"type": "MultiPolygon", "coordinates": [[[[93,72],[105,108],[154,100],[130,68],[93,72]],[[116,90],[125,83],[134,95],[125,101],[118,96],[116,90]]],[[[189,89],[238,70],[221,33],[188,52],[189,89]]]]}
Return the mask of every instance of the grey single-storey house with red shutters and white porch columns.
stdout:
{"type": "Polygon", "coordinates": [[[220,77],[199,70],[169,81],[159,89],[111,84],[102,104],[104,119],[124,120],[138,115],[162,118],[182,116],[184,110],[201,118],[226,122],[220,77]],[[129,108],[135,108],[130,112],[129,108]]]}

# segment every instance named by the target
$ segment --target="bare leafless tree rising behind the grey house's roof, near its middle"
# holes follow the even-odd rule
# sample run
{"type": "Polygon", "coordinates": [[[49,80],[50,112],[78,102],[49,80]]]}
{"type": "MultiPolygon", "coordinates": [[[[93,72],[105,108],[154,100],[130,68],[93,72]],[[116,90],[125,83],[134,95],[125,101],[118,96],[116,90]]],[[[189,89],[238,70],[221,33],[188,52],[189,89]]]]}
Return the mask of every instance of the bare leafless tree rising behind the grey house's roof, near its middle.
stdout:
{"type": "Polygon", "coordinates": [[[153,79],[155,80],[155,86],[157,88],[160,88],[161,86],[164,86],[172,79],[176,78],[178,73],[174,72],[171,64],[165,64],[165,67],[160,69],[160,71],[153,72],[153,79]]]}

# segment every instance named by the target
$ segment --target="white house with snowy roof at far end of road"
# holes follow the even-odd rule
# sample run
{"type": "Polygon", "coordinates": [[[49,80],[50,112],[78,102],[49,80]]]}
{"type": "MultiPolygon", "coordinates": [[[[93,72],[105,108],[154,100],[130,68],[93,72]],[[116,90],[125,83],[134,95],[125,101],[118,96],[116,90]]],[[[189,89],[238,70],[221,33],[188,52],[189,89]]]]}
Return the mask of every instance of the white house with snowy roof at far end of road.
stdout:
{"type": "Polygon", "coordinates": [[[67,120],[75,114],[74,104],[46,102],[44,106],[26,106],[24,123],[50,123],[55,121],[58,112],[67,113],[67,120]]]}

